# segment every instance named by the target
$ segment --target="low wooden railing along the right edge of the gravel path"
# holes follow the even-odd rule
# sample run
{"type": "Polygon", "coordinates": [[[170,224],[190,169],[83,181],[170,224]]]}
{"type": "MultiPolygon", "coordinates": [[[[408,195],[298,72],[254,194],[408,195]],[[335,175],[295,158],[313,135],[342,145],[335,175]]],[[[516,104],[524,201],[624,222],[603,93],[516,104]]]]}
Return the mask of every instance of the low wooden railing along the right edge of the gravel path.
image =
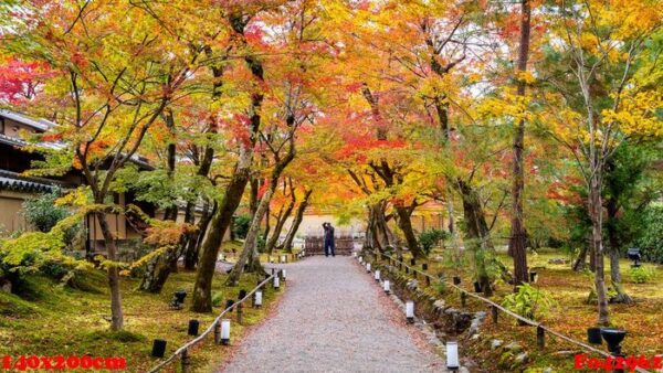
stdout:
{"type": "MultiPolygon", "coordinates": [[[[381,256],[382,258],[387,258],[389,260],[390,265],[393,265],[393,266],[398,265],[399,267],[402,266],[404,268],[408,268],[408,270],[411,270],[412,274],[420,274],[421,276],[423,276],[424,278],[427,278],[427,284],[428,285],[431,284],[431,280],[439,281],[439,283],[444,283],[445,286],[450,286],[451,288],[453,288],[453,289],[455,289],[455,290],[459,291],[459,294],[461,295],[461,301],[462,301],[463,306],[465,306],[464,305],[465,303],[465,298],[467,296],[470,296],[472,298],[475,298],[475,299],[480,300],[483,303],[488,305],[488,307],[491,309],[491,316],[492,316],[493,322],[495,322],[495,323],[497,322],[498,312],[502,312],[504,315],[507,315],[508,317],[512,317],[512,318],[518,320],[520,323],[535,327],[536,328],[536,335],[537,335],[537,344],[538,344],[538,347],[540,349],[543,349],[545,347],[545,335],[546,335],[546,333],[548,333],[548,334],[555,335],[555,337],[557,337],[557,338],[559,338],[559,339],[561,339],[561,340],[564,340],[566,342],[569,342],[571,344],[578,345],[578,347],[585,349],[588,352],[597,353],[597,354],[599,354],[599,355],[601,355],[603,358],[610,358],[610,356],[612,356],[610,353],[608,353],[608,352],[606,352],[603,350],[599,350],[599,349],[597,349],[594,347],[591,347],[591,345],[589,345],[589,344],[587,344],[585,342],[581,342],[581,341],[575,340],[575,339],[572,339],[570,337],[567,337],[567,335],[565,335],[565,334],[562,334],[562,333],[560,333],[560,332],[558,332],[556,330],[552,330],[552,329],[544,326],[540,322],[527,319],[527,318],[525,318],[525,317],[523,317],[523,316],[520,316],[518,313],[515,313],[515,312],[513,312],[513,311],[511,311],[511,310],[502,307],[501,305],[492,301],[491,299],[487,299],[487,298],[484,298],[484,297],[482,297],[480,295],[476,295],[476,294],[473,294],[471,291],[467,291],[466,289],[464,289],[464,288],[462,288],[462,287],[460,287],[460,286],[457,286],[457,285],[455,285],[455,284],[453,284],[453,283],[451,283],[449,280],[445,280],[444,278],[436,277],[436,276],[428,274],[428,273],[425,273],[425,271],[423,271],[423,270],[421,270],[419,268],[414,268],[414,267],[406,264],[402,260],[402,258],[399,260],[398,258],[394,258],[394,257],[392,257],[392,256],[390,256],[388,254],[385,254],[385,253],[380,253],[380,254],[377,254],[377,255],[375,253],[371,253],[371,255],[373,255],[377,260],[379,260],[380,256],[381,256]]],[[[640,373],[650,373],[649,371],[646,371],[644,369],[641,369],[641,367],[636,367],[635,371],[640,372],[640,373]]]]}

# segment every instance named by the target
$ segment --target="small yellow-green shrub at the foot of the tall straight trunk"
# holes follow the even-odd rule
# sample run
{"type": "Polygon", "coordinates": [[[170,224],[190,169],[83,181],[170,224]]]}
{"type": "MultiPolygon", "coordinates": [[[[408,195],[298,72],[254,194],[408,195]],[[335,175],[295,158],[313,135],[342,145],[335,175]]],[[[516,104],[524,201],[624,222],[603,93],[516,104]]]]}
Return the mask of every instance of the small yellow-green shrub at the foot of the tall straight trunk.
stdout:
{"type": "Polygon", "coordinates": [[[525,318],[538,320],[557,303],[548,291],[537,289],[529,284],[517,286],[517,290],[504,297],[502,306],[525,318]]]}

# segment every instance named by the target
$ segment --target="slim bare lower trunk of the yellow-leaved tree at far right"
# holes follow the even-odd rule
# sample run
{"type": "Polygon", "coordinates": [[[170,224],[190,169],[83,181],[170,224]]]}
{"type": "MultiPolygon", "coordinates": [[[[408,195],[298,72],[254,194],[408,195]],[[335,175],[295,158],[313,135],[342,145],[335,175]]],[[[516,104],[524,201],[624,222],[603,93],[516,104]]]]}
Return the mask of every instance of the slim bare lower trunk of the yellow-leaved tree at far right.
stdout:
{"type": "MultiPolygon", "coordinates": [[[[592,168],[593,169],[593,168],[592,168]]],[[[596,271],[594,286],[597,290],[599,326],[607,326],[609,320],[608,296],[606,291],[604,264],[603,264],[603,237],[602,237],[602,203],[601,180],[596,173],[590,178],[589,185],[589,212],[591,217],[591,247],[593,248],[596,271]]]]}

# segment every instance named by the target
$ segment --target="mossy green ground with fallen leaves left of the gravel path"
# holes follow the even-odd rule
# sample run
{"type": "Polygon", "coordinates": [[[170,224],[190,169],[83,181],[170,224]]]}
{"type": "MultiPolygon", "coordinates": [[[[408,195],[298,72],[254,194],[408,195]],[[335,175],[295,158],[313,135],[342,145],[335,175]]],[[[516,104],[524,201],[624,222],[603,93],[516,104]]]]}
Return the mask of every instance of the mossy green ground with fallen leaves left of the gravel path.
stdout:
{"type": "MultiPolygon", "coordinates": [[[[256,278],[245,275],[239,287],[224,288],[224,275],[217,274],[213,294],[223,299],[236,299],[240,289],[250,291],[255,287],[256,278]]],[[[200,332],[211,323],[222,310],[214,308],[212,313],[189,311],[194,273],[172,275],[160,295],[150,295],[135,290],[139,280],[124,278],[123,306],[125,330],[109,331],[109,299],[106,279],[101,271],[87,273],[81,281],[96,291],[83,291],[62,287],[49,279],[32,277],[28,286],[32,290],[31,300],[0,291],[0,355],[83,355],[123,356],[127,361],[128,372],[146,372],[158,363],[150,356],[154,339],[167,341],[166,356],[192,337],[187,335],[190,319],[200,321],[200,332]],[[168,302],[172,292],[185,289],[188,292],[182,310],[169,310],[168,302]]],[[[269,288],[269,287],[267,287],[269,288]]],[[[263,302],[269,307],[277,292],[265,291],[263,302]]],[[[224,305],[222,301],[220,305],[224,305]]],[[[257,323],[265,317],[265,309],[244,308],[243,326],[232,319],[231,340],[236,343],[248,326],[257,323]]],[[[191,352],[193,372],[213,371],[213,366],[223,361],[228,348],[215,345],[213,335],[196,347],[191,352]]],[[[165,372],[175,372],[179,361],[165,372]]]]}

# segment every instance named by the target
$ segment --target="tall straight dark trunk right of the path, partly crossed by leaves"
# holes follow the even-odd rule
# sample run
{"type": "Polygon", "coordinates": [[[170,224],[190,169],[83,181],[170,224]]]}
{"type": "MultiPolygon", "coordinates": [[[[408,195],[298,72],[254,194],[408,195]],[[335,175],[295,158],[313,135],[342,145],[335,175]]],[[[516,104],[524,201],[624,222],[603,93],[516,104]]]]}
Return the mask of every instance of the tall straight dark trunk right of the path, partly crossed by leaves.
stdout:
{"type": "MultiPolygon", "coordinates": [[[[520,2],[520,51],[518,55],[518,72],[527,72],[527,60],[529,57],[529,29],[530,13],[529,0],[520,2]]],[[[518,96],[525,96],[526,83],[518,79],[518,96]]],[[[508,254],[514,259],[514,290],[515,287],[529,281],[527,270],[527,248],[525,236],[525,224],[523,221],[523,191],[525,189],[525,171],[523,164],[523,150],[525,143],[525,119],[518,120],[514,132],[514,161],[513,161],[513,185],[512,185],[512,222],[511,237],[508,242],[508,254]]]]}

